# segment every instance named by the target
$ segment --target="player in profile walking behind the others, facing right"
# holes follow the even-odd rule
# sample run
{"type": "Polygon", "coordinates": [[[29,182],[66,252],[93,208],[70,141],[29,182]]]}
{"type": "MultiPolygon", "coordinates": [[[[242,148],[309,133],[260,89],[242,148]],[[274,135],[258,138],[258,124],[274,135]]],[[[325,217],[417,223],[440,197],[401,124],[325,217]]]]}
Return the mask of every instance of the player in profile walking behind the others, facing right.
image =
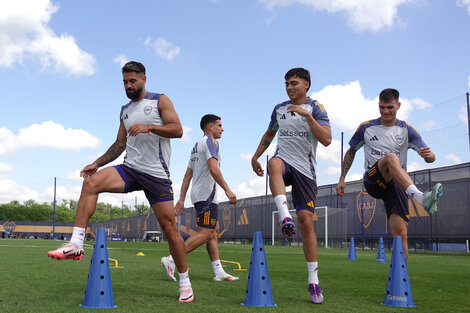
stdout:
{"type": "MultiPolygon", "coordinates": [[[[230,190],[220,171],[219,143],[222,132],[220,117],[213,114],[204,115],[200,123],[204,136],[196,142],[188,168],[181,185],[180,199],[176,202],[175,213],[181,215],[184,210],[184,200],[191,180],[191,202],[196,209],[196,224],[198,232],[185,242],[185,251],[190,253],[194,249],[206,243],[207,252],[214,269],[215,281],[236,281],[238,277],[227,274],[222,268],[217,245],[219,223],[217,213],[219,204],[217,201],[217,185],[222,187],[229,202],[235,204],[237,197],[230,190]]],[[[162,257],[161,263],[170,280],[176,281],[174,276],[175,262],[171,255],[162,257]]]]}

